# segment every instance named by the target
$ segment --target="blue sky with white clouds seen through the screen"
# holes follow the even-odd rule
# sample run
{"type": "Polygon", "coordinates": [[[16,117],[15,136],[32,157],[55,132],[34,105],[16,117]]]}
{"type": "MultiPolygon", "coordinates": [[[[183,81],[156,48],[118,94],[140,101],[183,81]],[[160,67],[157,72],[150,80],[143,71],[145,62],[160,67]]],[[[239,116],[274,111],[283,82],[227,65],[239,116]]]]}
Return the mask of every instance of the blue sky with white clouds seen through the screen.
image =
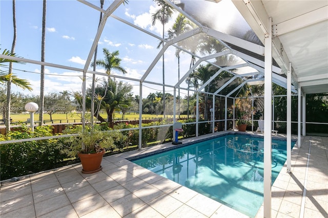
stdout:
{"type": "MultiPolygon", "coordinates": [[[[100,1],[89,1],[100,6],[100,1]]],[[[112,1],[105,1],[106,10],[112,1]]],[[[12,25],[12,1],[0,1],[1,51],[11,49],[13,40],[12,25]]],[[[42,7],[43,2],[38,1],[16,1],[16,23],[17,41],[15,53],[24,58],[40,60],[41,37],[42,37],[42,7]]],[[[133,1],[128,5],[121,5],[114,14],[128,20],[130,23],[150,31],[161,37],[162,26],[157,22],[151,25],[151,14],[155,12],[156,5],[152,1],[133,1]]],[[[176,14],[166,25],[166,30],[172,27],[176,14]]],[[[96,35],[99,22],[99,12],[77,1],[47,1],[47,32],[46,32],[46,56],[45,61],[84,68],[84,63],[90,52],[93,39],[96,35]]],[[[167,31],[166,31],[167,32],[167,31]]],[[[159,40],[138,31],[121,21],[109,17],[107,24],[98,42],[97,59],[102,59],[103,48],[109,51],[119,51],[122,59],[121,65],[131,78],[141,78],[159,52],[157,45],[159,40]]],[[[180,77],[186,73],[190,65],[190,55],[181,54],[180,77]]],[[[146,80],[162,82],[161,58],[147,77],[146,80]]],[[[36,64],[14,64],[14,71],[20,78],[28,79],[33,91],[25,91],[26,94],[39,95],[39,72],[40,66],[36,64]]],[[[6,70],[6,69],[3,69],[6,70]]],[[[92,70],[89,67],[89,70],[92,70]]],[[[97,67],[96,71],[105,72],[97,67]]],[[[178,81],[177,58],[175,48],[169,48],[165,53],[166,84],[174,85],[178,81]]],[[[61,92],[80,91],[80,72],[46,67],[45,91],[61,92]]],[[[114,72],[114,74],[119,74],[114,72]]],[[[90,75],[91,76],[91,75],[90,75]]],[[[139,95],[139,84],[125,80],[133,85],[134,95],[139,95]]],[[[88,86],[91,80],[88,81],[88,86]]],[[[182,84],[186,86],[186,84],[182,84]]],[[[145,83],[142,96],[146,97],[149,92],[161,91],[161,86],[145,83]]],[[[167,92],[173,94],[173,89],[166,88],[167,92]]],[[[23,92],[13,86],[13,92],[23,92]]]]}

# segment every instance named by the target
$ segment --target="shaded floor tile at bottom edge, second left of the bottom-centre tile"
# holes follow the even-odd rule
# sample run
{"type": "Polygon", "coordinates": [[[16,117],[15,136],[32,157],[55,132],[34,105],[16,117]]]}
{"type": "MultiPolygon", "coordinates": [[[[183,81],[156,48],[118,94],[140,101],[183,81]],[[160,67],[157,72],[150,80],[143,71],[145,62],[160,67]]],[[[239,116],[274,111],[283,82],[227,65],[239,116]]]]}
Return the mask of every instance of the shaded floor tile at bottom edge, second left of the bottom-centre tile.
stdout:
{"type": "Polygon", "coordinates": [[[72,204],[78,216],[86,215],[107,205],[107,202],[99,195],[95,194],[72,204]]]}

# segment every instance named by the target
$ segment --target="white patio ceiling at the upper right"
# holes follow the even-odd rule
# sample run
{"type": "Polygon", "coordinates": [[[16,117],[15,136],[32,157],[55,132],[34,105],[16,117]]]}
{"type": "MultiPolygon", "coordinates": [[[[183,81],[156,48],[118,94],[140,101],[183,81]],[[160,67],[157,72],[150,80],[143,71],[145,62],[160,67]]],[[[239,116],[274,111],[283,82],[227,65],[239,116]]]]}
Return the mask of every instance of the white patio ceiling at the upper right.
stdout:
{"type": "Polygon", "coordinates": [[[262,43],[273,20],[273,58],[302,93],[328,92],[327,1],[233,1],[262,43]]]}

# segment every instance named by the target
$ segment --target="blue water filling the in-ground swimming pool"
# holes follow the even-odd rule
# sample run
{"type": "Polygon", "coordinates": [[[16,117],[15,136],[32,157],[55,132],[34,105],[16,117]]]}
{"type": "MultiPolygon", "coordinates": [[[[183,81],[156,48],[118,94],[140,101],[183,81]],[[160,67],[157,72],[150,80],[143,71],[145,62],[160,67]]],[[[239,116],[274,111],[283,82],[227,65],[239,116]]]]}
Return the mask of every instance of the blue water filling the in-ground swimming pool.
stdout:
{"type": "MultiPolygon", "coordinates": [[[[263,137],[229,134],[132,162],[254,217],[263,202],[263,149],[263,137]]],[[[272,139],[272,183],[285,161],[286,140],[272,139]]]]}

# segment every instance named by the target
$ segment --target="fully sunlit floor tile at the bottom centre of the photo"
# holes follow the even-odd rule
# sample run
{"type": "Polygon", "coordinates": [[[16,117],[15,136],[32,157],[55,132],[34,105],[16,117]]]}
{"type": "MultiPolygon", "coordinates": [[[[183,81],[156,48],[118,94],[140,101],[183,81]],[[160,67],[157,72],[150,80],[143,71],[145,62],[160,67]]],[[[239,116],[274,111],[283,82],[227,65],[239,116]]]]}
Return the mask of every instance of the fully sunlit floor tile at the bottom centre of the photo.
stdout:
{"type": "Polygon", "coordinates": [[[148,203],[152,208],[158,211],[163,216],[168,216],[173,211],[181,207],[182,202],[176,200],[168,194],[163,194],[157,199],[148,203]]]}

